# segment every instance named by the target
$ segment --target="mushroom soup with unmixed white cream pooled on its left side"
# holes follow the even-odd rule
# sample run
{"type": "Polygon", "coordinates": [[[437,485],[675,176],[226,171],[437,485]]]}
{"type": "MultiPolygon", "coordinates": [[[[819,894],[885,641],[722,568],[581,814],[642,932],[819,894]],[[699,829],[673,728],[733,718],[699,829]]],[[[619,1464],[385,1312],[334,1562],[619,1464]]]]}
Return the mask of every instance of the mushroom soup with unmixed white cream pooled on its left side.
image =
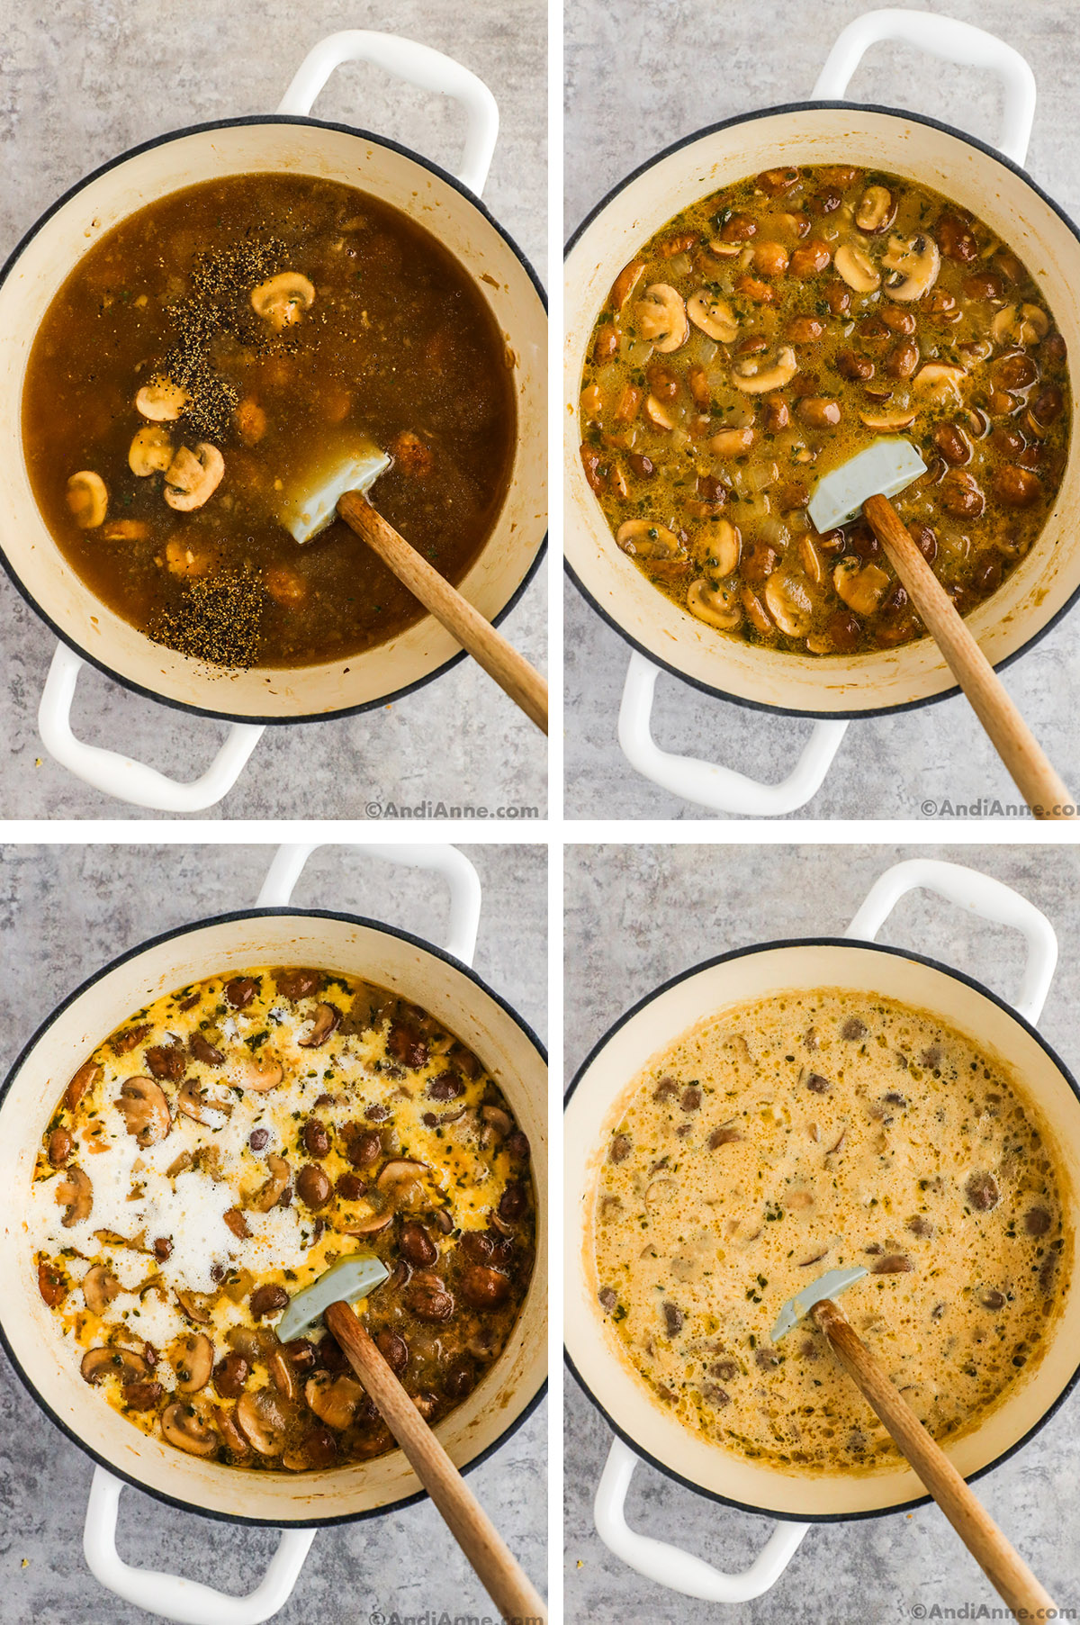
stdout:
{"type": "Polygon", "coordinates": [[[349,1253],[357,1310],[438,1422],[499,1358],[534,1259],[529,1146],[479,1058],[391,993],[250,970],[136,1011],[70,1081],[31,1246],[65,1357],[169,1445],[227,1466],[393,1448],[330,1332],[279,1342],[349,1253]]]}

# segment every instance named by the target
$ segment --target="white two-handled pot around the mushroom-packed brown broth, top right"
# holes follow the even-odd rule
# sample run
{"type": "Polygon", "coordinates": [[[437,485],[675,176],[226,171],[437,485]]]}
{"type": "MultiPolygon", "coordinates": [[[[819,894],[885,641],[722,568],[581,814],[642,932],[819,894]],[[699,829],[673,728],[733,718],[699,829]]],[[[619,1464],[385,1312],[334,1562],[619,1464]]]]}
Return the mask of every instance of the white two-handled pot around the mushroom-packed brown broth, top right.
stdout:
{"type": "MultiPolygon", "coordinates": [[[[1010,46],[924,11],[872,11],[833,46],[814,101],[729,119],[635,171],[585,221],[565,265],[567,569],[594,609],[632,645],[619,743],[654,783],[721,812],[793,812],[820,788],[846,720],[926,705],[958,692],[932,639],[869,655],[786,655],[724,637],[658,593],[616,546],[581,460],[578,395],[593,323],[622,266],[679,210],[732,180],[786,164],[862,164],[934,187],[986,219],[1036,271],[1072,354],[1080,354],[1077,231],[1020,169],[1035,114],[1031,68],[1010,46]],[[867,46],[905,41],[992,70],[1004,89],[999,151],[948,125],[838,101],[867,46]],[[817,106],[815,106],[817,104],[817,106]],[[713,762],[674,756],[651,736],[659,670],[741,705],[820,718],[793,772],[762,785],[713,762]]],[[[1074,398],[1074,414],[1077,401],[1074,398]]],[[[968,616],[987,658],[1004,666],[1065,613],[1080,590],[1080,447],[1072,452],[1043,535],[1000,592],[968,616]]]]}

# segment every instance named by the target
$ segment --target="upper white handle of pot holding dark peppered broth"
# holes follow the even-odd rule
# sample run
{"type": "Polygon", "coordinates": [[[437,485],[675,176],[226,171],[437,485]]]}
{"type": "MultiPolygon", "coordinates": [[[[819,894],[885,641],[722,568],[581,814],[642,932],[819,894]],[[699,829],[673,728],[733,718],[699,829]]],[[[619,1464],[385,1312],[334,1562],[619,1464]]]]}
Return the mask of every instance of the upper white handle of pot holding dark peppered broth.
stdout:
{"type": "Polygon", "coordinates": [[[414,39],[349,28],[341,34],[328,34],[309,50],[281,98],[278,112],[307,117],[323,84],[343,62],[372,62],[377,68],[408,80],[409,84],[453,96],[461,102],[469,124],[458,180],[476,197],[481,195],[499,140],[499,107],[482,80],[453,57],[443,57],[440,50],[421,46],[414,39]]]}

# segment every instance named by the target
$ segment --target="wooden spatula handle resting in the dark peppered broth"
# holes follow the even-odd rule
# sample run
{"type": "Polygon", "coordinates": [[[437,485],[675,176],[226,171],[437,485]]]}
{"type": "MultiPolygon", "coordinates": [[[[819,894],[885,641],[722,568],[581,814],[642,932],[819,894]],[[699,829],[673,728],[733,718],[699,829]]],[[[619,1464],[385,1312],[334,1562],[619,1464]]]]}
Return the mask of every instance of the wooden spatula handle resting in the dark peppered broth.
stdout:
{"type": "Polygon", "coordinates": [[[338,514],[362,536],[414,598],[451,632],[461,648],[494,678],[526,717],[547,733],[547,684],[525,655],[486,621],[479,609],[411,548],[359,491],[346,491],[338,514]]]}

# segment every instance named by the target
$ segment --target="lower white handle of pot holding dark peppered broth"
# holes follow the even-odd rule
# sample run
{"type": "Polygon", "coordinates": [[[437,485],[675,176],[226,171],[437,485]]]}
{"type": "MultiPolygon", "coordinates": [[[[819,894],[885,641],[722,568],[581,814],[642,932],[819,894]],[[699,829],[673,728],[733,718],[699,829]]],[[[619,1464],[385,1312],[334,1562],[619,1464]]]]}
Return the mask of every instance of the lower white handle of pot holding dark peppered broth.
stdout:
{"type": "Polygon", "coordinates": [[[261,726],[234,723],[206,772],[182,785],[130,756],[107,751],[99,744],[83,744],[75,738],[71,704],[84,665],[86,661],[73,648],[57,644],[37,707],[41,741],[62,767],[106,796],[115,796],[136,808],[154,808],[158,812],[201,812],[232,790],[263,734],[261,726]]]}

